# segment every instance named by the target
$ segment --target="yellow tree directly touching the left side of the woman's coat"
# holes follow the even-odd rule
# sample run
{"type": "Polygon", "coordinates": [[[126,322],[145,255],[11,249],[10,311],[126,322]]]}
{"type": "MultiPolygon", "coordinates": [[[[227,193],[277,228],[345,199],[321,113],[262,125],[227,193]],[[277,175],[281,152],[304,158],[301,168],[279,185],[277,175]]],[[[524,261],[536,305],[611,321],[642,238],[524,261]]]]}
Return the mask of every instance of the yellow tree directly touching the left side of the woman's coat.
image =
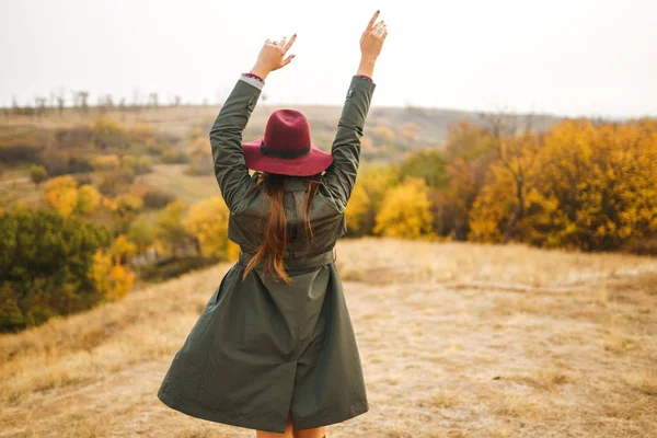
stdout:
{"type": "Polygon", "coordinates": [[[204,257],[228,257],[230,211],[220,196],[204,199],[189,208],[185,229],[198,241],[204,257]]]}

